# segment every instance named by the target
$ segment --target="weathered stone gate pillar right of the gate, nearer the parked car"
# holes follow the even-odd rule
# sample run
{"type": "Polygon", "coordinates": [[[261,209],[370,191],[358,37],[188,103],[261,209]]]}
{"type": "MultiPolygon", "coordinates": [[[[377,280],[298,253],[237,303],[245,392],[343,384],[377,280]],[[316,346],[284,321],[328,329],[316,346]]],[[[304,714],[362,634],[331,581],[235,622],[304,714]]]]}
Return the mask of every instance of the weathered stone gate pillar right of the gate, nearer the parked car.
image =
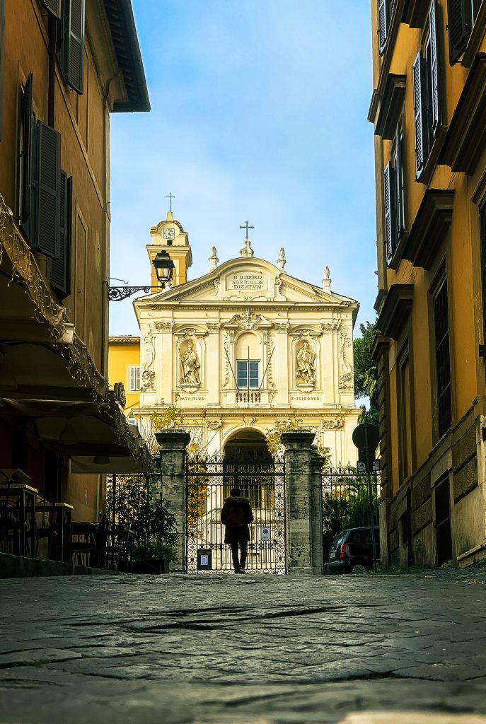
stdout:
{"type": "Polygon", "coordinates": [[[289,430],[285,447],[288,573],[322,573],[322,487],[314,432],[289,430]],[[319,478],[319,484],[317,479],[319,478]]]}

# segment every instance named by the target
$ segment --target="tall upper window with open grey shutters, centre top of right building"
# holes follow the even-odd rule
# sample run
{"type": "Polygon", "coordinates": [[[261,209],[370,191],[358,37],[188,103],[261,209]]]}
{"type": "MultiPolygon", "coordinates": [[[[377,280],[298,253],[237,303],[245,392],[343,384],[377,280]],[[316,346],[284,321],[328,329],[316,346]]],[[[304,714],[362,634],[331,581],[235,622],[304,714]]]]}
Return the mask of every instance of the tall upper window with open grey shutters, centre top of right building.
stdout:
{"type": "Polygon", "coordinates": [[[432,0],[424,47],[419,50],[412,69],[417,180],[422,176],[440,129],[439,41],[437,0],[432,0]]]}

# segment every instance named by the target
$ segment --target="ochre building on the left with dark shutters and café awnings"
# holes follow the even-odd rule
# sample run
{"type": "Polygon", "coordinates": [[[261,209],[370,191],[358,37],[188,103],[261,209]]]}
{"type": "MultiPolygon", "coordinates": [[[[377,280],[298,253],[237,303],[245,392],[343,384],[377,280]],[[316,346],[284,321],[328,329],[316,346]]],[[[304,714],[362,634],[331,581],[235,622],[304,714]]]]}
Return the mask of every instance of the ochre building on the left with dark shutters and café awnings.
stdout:
{"type": "Polygon", "coordinates": [[[0,0],[0,469],[75,520],[148,461],[106,379],[109,115],[148,110],[130,0],[0,0]]]}

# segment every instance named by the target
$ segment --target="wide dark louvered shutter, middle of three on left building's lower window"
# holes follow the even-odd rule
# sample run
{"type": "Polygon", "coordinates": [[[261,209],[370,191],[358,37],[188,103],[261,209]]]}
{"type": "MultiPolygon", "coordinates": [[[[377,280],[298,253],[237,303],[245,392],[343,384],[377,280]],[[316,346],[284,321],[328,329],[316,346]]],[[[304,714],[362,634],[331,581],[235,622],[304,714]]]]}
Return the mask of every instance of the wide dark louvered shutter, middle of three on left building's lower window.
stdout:
{"type": "Polygon", "coordinates": [[[59,258],[61,136],[41,121],[35,128],[35,235],[33,248],[59,258]]]}

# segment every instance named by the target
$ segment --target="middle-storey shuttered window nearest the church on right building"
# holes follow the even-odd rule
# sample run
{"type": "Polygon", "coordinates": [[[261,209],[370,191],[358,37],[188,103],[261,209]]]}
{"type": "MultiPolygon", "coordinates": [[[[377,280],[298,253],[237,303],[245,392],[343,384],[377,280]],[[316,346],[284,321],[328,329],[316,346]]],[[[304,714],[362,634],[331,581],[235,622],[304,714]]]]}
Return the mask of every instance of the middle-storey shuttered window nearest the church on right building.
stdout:
{"type": "Polygon", "coordinates": [[[390,162],[383,172],[385,206],[385,248],[387,262],[393,258],[405,230],[405,201],[403,190],[403,127],[397,124],[390,162]]]}

